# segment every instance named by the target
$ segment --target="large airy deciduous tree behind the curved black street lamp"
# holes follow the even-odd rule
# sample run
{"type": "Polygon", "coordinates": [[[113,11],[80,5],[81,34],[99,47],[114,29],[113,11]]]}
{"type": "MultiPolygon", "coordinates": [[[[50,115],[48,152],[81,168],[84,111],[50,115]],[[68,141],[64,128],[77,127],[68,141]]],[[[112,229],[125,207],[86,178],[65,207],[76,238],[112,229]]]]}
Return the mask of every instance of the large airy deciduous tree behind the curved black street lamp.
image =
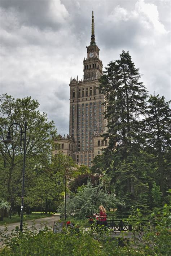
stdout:
{"type": "MultiPolygon", "coordinates": [[[[33,173],[48,165],[56,129],[47,114],[40,113],[39,103],[31,97],[14,99],[9,95],[0,97],[0,139],[5,139],[9,126],[17,122],[22,128],[27,121],[25,190],[31,184],[33,173]]],[[[12,126],[11,145],[0,143],[0,198],[7,199],[12,209],[20,205],[22,184],[23,147],[20,146],[20,130],[12,126]]],[[[27,195],[26,195],[27,196],[27,195]]],[[[16,209],[15,209],[16,210],[16,209]]]]}

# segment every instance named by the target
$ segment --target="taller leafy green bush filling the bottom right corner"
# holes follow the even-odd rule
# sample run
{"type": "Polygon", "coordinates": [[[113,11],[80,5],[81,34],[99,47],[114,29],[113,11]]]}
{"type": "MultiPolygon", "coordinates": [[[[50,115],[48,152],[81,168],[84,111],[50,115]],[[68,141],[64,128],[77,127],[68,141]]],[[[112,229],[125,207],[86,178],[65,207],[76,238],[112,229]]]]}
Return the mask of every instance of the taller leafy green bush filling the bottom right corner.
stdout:
{"type": "MultiPolygon", "coordinates": [[[[170,190],[171,193],[171,190],[170,190]]],[[[142,215],[139,209],[128,218],[133,227],[133,245],[139,243],[139,249],[144,255],[170,255],[171,243],[171,204],[165,204],[161,209],[151,214],[147,226],[141,227],[142,215]]]]}

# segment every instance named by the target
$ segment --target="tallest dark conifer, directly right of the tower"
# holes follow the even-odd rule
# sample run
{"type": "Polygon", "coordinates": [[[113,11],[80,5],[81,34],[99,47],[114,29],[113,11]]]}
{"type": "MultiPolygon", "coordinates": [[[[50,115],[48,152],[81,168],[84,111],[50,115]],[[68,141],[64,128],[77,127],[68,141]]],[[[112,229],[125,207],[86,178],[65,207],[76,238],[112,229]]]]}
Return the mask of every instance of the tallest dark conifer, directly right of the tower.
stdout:
{"type": "Polygon", "coordinates": [[[105,95],[104,114],[108,121],[108,132],[104,135],[109,139],[105,150],[108,173],[119,195],[130,204],[137,200],[135,190],[138,190],[138,184],[146,184],[137,168],[137,158],[141,154],[139,118],[146,108],[147,97],[140,78],[139,69],[135,68],[129,52],[122,51],[120,59],[111,61],[100,79],[100,90],[105,95]]]}

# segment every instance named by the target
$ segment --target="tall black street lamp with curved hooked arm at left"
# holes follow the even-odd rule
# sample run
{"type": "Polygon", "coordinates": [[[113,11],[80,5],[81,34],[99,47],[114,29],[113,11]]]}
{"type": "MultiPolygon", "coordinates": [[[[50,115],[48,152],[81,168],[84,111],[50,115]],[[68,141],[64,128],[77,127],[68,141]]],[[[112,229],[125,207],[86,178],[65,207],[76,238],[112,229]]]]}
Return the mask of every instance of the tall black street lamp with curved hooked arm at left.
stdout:
{"type": "Polygon", "coordinates": [[[6,136],[6,140],[2,140],[2,142],[4,142],[5,144],[8,143],[14,143],[14,140],[12,140],[11,137],[11,132],[10,132],[10,128],[13,125],[19,125],[20,127],[20,146],[21,146],[21,142],[22,140],[24,141],[24,156],[23,156],[23,173],[22,173],[22,194],[21,194],[21,218],[20,218],[20,227],[19,230],[22,232],[23,231],[23,210],[24,210],[24,182],[25,182],[25,162],[26,162],[26,129],[27,129],[27,122],[25,121],[24,124],[24,131],[22,131],[22,127],[19,123],[12,123],[12,125],[9,126],[8,129],[8,135],[6,136]],[[22,134],[24,134],[24,138],[22,139],[22,134]]]}

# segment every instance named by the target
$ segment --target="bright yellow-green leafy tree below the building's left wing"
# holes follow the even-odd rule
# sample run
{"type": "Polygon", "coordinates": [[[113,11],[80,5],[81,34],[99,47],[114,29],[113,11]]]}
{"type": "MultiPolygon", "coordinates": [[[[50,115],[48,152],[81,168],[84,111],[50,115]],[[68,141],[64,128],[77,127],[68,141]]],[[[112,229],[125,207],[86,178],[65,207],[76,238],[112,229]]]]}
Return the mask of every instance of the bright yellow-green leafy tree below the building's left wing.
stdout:
{"type": "Polygon", "coordinates": [[[69,182],[76,175],[75,169],[75,162],[71,157],[58,153],[52,157],[48,165],[37,166],[32,170],[32,177],[29,178],[25,190],[27,211],[31,212],[35,209],[45,213],[56,212],[64,196],[63,178],[66,175],[66,180],[69,182]],[[58,185],[59,181],[60,185],[58,185]]]}

